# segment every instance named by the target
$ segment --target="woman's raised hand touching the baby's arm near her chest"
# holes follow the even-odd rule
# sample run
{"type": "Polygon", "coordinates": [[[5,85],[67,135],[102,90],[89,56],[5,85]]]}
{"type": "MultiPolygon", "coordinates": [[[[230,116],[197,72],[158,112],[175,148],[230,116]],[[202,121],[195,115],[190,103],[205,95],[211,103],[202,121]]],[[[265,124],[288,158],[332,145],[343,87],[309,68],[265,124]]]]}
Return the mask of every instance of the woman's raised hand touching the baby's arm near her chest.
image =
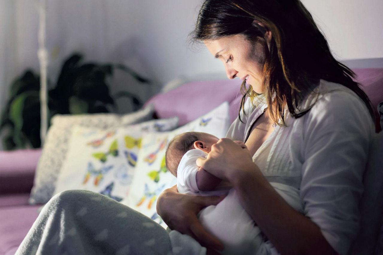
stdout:
{"type": "Polygon", "coordinates": [[[229,182],[238,171],[254,171],[257,167],[247,146],[242,141],[232,141],[229,138],[219,139],[212,145],[206,159],[197,159],[197,166],[229,182]]]}

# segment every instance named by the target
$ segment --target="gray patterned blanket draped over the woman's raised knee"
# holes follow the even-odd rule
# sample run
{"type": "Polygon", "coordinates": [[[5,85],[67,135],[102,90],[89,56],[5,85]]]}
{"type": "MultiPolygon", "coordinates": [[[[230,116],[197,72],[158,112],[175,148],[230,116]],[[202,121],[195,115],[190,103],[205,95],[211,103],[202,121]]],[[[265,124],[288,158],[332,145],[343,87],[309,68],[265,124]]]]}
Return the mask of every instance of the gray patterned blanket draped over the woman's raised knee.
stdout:
{"type": "Polygon", "coordinates": [[[205,254],[189,236],[98,193],[69,190],[43,208],[16,254],[205,254]]]}

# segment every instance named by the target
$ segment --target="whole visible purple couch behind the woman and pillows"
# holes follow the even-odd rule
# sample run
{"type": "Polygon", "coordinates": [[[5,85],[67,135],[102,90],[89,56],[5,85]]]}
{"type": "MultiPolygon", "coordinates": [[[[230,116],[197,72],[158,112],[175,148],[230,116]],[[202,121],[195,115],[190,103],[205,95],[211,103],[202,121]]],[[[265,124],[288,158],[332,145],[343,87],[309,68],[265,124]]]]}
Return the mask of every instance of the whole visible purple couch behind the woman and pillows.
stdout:
{"type": "MultiPolygon", "coordinates": [[[[383,69],[354,71],[378,114],[376,107],[383,101],[383,69]]],[[[229,101],[233,121],[241,100],[239,87],[240,81],[237,79],[191,82],[167,93],[157,94],[146,104],[154,103],[158,118],[178,116],[179,125],[184,125],[221,102],[229,101]]],[[[380,131],[378,115],[376,129],[380,131]]],[[[28,198],[40,154],[40,149],[0,151],[0,255],[15,253],[38,216],[41,205],[28,205],[28,198]]]]}

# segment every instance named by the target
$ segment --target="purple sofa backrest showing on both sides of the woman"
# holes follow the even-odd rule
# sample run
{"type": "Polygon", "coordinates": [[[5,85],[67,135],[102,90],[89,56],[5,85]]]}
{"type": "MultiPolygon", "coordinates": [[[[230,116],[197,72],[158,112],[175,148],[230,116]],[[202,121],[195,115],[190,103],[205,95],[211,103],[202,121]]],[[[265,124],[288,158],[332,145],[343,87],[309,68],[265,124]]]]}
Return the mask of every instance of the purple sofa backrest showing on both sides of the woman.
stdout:
{"type": "MultiPolygon", "coordinates": [[[[354,69],[357,81],[370,98],[376,115],[376,130],[380,131],[378,104],[383,102],[383,68],[354,69]]],[[[242,94],[241,80],[193,81],[151,97],[145,105],[154,104],[158,118],[178,116],[179,126],[195,120],[224,101],[230,103],[230,117],[238,115],[242,94]]],[[[383,114],[383,113],[382,113],[383,114]]]]}

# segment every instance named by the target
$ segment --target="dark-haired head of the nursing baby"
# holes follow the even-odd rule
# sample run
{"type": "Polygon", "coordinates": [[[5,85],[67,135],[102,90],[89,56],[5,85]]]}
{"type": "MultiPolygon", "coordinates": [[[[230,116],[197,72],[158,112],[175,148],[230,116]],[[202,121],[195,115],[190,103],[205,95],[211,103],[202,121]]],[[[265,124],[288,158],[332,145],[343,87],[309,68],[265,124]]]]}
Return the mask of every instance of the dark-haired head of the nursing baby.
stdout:
{"type": "Polygon", "coordinates": [[[211,146],[218,142],[219,138],[203,132],[186,132],[175,136],[166,149],[165,161],[167,169],[177,176],[177,168],[182,156],[191,149],[200,149],[205,153],[211,151],[211,146]]]}

